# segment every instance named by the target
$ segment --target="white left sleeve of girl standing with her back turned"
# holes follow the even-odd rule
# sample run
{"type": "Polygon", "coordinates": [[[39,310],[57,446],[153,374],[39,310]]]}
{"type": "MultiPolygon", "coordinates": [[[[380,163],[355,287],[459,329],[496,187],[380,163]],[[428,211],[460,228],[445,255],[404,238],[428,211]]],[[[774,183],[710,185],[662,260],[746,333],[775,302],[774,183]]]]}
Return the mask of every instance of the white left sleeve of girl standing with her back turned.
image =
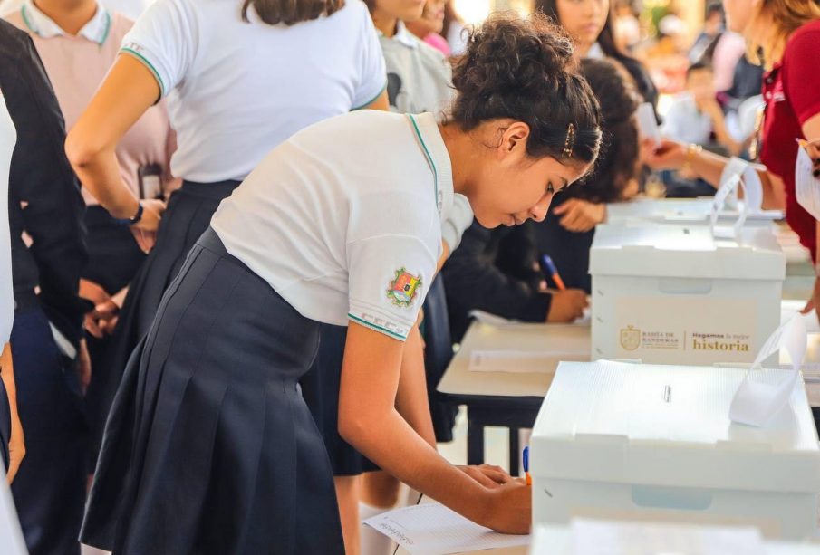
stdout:
{"type": "Polygon", "coordinates": [[[121,53],[154,74],[164,97],[184,79],[197,51],[197,19],[186,0],[157,0],[122,39],[121,53]]]}

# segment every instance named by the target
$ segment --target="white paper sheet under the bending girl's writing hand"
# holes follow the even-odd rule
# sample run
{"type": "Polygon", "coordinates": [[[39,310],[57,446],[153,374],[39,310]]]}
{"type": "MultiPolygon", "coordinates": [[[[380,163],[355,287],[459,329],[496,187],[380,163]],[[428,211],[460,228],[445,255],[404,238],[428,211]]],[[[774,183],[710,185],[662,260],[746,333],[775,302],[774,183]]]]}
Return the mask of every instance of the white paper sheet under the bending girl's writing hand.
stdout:
{"type": "Polygon", "coordinates": [[[439,503],[382,512],[364,521],[412,555],[449,555],[528,545],[529,536],[508,536],[479,526],[439,503]]]}

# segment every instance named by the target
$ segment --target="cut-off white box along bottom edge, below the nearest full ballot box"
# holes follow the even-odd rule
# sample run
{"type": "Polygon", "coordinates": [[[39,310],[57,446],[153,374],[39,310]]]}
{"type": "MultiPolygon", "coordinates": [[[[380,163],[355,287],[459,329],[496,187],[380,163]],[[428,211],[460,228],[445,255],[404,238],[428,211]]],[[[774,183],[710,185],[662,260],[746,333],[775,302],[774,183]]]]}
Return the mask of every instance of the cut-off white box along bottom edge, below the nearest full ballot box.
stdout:
{"type": "Polygon", "coordinates": [[[818,555],[820,544],[761,541],[754,529],[647,522],[539,524],[530,555],[818,555]]]}

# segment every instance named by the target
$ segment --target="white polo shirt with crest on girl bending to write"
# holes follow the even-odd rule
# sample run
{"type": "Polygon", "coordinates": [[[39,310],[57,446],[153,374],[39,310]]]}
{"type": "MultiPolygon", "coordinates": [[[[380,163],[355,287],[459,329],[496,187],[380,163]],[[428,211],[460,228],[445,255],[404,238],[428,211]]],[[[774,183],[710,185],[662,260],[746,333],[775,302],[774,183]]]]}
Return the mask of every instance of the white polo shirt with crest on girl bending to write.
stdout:
{"type": "Polygon", "coordinates": [[[363,110],[285,141],[222,202],[211,226],[228,253],[304,317],[352,320],[405,340],[452,206],[435,116],[363,110]]]}

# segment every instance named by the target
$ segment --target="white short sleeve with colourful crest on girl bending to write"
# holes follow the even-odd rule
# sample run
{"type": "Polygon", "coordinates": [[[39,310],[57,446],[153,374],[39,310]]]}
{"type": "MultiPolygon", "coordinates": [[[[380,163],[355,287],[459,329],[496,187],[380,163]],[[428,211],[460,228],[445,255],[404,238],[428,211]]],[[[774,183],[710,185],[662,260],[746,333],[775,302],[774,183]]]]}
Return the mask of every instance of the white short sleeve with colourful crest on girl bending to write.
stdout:
{"type": "Polygon", "coordinates": [[[440,225],[427,197],[393,192],[359,201],[347,243],[351,321],[407,339],[436,272],[440,225]]]}

